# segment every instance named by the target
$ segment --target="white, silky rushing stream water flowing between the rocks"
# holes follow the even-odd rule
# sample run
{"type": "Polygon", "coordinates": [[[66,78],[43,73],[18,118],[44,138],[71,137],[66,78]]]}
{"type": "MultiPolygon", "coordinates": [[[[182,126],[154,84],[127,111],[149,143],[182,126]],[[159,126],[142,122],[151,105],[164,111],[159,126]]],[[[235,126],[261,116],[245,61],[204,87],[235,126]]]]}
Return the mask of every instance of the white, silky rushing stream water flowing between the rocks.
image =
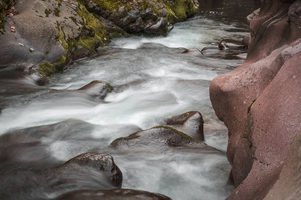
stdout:
{"type": "Polygon", "coordinates": [[[2,149],[1,199],[50,199],[75,188],[101,188],[91,175],[82,175],[82,182],[72,189],[50,188],[33,175],[88,151],[114,157],[123,173],[123,188],[159,192],[174,200],[226,198],[233,190],[227,185],[231,169],[225,154],[227,129],[215,116],[209,84],[230,70],[220,67],[241,64],[243,56],[236,55],[246,50],[181,52],[217,46],[225,37],[243,38],[248,34],[245,16],[259,3],[200,0],[199,13],[176,24],[168,36],[113,39],[98,49],[97,56],[76,61],[44,87],[33,75],[0,71],[0,134],[25,132],[40,142],[34,146],[13,142],[12,148],[2,149]],[[115,89],[104,100],[72,91],[92,80],[107,81],[115,89]],[[219,150],[109,148],[117,137],[191,110],[202,113],[205,142],[219,150]],[[40,125],[44,126],[35,128],[40,125]]]}

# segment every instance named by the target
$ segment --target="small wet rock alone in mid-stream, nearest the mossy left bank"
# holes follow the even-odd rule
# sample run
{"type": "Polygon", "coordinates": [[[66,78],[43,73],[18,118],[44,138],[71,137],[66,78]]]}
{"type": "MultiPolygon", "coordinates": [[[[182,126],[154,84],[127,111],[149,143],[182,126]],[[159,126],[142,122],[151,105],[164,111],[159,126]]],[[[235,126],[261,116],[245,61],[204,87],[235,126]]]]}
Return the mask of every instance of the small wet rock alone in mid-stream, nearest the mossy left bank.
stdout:
{"type": "Polygon", "coordinates": [[[113,90],[113,87],[108,82],[93,80],[77,90],[85,91],[92,96],[99,96],[100,99],[104,99],[107,93],[113,90]]]}

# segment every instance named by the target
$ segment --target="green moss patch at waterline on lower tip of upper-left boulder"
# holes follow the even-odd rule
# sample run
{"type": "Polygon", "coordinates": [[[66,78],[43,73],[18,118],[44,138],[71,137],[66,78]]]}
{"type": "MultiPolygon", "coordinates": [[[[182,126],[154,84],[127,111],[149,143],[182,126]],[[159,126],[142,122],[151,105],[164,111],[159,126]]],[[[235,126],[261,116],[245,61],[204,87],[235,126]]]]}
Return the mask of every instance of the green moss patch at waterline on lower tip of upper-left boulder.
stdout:
{"type": "Polygon", "coordinates": [[[66,63],[66,57],[62,55],[60,61],[56,63],[44,62],[39,65],[37,71],[39,71],[44,76],[49,76],[52,73],[63,71],[64,65],[66,63]]]}

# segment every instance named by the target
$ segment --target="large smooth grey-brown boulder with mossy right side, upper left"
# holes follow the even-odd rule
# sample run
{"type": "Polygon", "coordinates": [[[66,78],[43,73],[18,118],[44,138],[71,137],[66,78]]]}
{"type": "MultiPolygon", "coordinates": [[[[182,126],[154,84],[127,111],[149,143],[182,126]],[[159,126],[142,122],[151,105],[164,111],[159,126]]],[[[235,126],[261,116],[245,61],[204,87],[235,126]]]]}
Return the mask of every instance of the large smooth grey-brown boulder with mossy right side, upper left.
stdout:
{"type": "Polygon", "coordinates": [[[77,2],[17,0],[15,9],[20,14],[6,18],[6,31],[0,35],[0,68],[16,65],[36,70],[41,74],[40,84],[62,71],[77,49],[87,49],[81,51],[86,56],[109,42],[105,25],[77,2]],[[12,25],[16,32],[10,31],[12,25]]]}

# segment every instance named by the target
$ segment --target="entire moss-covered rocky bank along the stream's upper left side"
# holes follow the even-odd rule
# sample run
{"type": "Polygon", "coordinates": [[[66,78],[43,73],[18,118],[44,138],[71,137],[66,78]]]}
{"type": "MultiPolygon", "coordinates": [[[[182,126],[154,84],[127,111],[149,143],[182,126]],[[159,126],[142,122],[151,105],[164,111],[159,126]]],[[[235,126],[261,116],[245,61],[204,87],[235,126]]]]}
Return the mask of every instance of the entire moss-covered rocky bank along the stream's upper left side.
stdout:
{"type": "Polygon", "coordinates": [[[197,0],[16,0],[13,10],[11,2],[0,0],[0,68],[35,70],[39,84],[110,38],[166,35],[198,10],[197,0]]]}

